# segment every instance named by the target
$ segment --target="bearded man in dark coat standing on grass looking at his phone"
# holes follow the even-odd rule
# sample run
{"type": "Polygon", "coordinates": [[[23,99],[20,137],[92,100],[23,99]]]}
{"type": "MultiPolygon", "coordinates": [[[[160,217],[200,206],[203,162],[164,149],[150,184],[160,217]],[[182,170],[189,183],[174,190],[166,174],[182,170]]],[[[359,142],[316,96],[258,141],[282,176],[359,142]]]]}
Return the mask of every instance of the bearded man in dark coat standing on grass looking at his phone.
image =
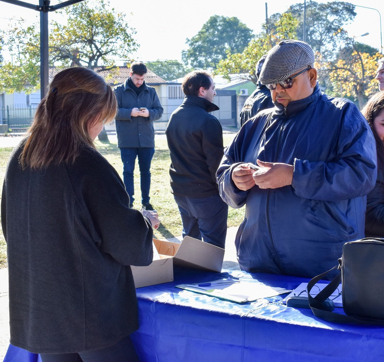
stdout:
{"type": "Polygon", "coordinates": [[[123,179],[130,206],[134,202],[133,172],[139,161],[141,203],[145,210],[153,210],[149,203],[151,188],[151,161],[155,153],[153,121],[163,114],[156,90],[145,84],[147,67],[141,62],[131,64],[130,77],[114,88],[118,100],[116,134],[123,163],[123,179]]]}

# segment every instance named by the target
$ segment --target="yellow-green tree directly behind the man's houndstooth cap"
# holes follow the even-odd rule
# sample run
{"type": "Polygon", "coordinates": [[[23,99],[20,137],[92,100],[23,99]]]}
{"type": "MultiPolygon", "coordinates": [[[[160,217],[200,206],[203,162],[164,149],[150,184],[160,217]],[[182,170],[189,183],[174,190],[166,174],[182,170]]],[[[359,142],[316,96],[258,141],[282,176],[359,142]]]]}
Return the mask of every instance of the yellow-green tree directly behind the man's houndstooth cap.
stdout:
{"type": "Polygon", "coordinates": [[[257,61],[280,41],[295,39],[297,24],[298,20],[289,13],[282,14],[271,27],[263,24],[263,31],[241,53],[227,53],[227,58],[218,63],[215,74],[222,74],[228,80],[230,74],[238,74],[257,84],[257,61]]]}

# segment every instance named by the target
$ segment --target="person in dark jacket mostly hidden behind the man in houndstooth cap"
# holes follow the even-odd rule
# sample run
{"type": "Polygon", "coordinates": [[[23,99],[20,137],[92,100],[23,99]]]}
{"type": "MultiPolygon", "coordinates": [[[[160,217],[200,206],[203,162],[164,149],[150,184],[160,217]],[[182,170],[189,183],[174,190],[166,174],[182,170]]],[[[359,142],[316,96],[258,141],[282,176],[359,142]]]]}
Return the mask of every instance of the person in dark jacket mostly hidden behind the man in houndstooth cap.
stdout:
{"type": "MultiPolygon", "coordinates": [[[[260,76],[265,58],[266,54],[263,55],[256,64],[257,78],[260,76]]],[[[271,98],[271,91],[266,88],[264,84],[261,84],[260,81],[258,81],[255,91],[253,91],[253,93],[247,98],[243,109],[240,112],[240,125],[243,126],[248,119],[256,116],[258,112],[273,107],[274,105],[271,98]]]]}

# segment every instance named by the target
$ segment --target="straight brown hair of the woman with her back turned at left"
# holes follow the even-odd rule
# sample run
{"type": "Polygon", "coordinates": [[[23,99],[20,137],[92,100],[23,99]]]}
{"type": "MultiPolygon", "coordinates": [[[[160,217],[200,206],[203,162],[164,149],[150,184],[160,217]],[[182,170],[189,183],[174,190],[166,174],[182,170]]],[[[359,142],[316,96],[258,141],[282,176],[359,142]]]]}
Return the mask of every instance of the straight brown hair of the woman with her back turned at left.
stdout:
{"type": "Polygon", "coordinates": [[[88,127],[111,122],[116,111],[116,96],[101,76],[88,68],[64,69],[37,107],[20,154],[22,167],[73,163],[84,145],[94,148],[88,127]]]}

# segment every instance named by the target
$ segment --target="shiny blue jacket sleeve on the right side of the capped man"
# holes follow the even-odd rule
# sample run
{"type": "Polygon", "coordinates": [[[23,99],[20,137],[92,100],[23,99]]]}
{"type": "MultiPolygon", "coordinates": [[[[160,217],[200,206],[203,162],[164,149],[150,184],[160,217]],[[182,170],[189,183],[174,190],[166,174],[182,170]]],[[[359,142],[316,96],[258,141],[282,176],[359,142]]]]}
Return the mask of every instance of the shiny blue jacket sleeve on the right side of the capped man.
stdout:
{"type": "MultiPolygon", "coordinates": [[[[356,111],[359,112],[356,108],[356,111]]],[[[340,201],[367,195],[376,182],[375,140],[366,120],[352,110],[354,129],[341,132],[332,162],[295,159],[292,187],[296,195],[312,200],[340,201]],[[356,120],[357,119],[357,120],[356,120]]]]}

